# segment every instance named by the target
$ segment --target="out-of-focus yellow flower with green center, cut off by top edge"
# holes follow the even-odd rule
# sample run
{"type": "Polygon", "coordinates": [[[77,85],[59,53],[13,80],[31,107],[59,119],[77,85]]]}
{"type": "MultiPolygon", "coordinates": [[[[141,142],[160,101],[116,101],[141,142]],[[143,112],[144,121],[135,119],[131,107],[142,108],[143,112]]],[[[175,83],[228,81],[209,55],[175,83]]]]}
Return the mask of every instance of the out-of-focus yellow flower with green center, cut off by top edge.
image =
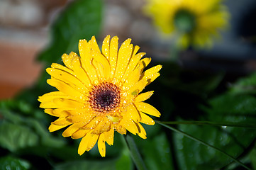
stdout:
{"type": "Polygon", "coordinates": [[[211,45],[213,35],[226,28],[228,12],[221,0],[147,0],[145,13],[163,33],[179,35],[182,47],[211,45]]]}

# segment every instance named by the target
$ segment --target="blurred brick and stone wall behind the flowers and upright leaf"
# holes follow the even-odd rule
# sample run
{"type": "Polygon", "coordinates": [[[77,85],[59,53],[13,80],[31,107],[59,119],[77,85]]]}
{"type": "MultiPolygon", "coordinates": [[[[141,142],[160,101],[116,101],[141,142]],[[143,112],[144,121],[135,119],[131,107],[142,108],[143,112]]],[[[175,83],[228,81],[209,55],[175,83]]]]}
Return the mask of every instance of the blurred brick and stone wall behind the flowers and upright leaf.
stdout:
{"type": "MultiPolygon", "coordinates": [[[[0,98],[11,98],[31,86],[41,72],[38,52],[50,41],[50,25],[72,1],[1,0],[0,1],[0,98]]],[[[132,38],[134,44],[153,60],[169,60],[171,42],[162,40],[150,18],[143,15],[143,0],[105,0],[104,19],[99,42],[106,35],[118,35],[121,41],[132,38]]],[[[182,52],[184,67],[224,70],[247,74],[256,69],[256,2],[225,1],[230,11],[230,28],[223,41],[211,50],[182,52]]]]}

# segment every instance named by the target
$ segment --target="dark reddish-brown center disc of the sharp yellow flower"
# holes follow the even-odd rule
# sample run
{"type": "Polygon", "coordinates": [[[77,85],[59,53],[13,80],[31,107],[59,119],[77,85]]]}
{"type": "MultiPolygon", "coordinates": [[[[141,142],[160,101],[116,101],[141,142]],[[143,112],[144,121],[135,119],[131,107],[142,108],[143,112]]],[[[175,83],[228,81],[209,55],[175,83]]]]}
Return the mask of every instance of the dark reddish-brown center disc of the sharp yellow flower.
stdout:
{"type": "Polygon", "coordinates": [[[113,111],[120,103],[120,90],[111,83],[103,83],[94,86],[89,96],[89,103],[94,111],[113,111]]]}

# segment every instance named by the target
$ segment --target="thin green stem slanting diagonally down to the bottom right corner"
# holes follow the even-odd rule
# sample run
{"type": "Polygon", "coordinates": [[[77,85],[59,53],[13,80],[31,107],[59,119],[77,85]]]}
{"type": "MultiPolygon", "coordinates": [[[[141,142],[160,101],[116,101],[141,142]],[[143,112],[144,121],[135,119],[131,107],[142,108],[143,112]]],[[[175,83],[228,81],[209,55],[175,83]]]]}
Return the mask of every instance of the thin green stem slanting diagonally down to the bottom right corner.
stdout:
{"type": "Polygon", "coordinates": [[[181,133],[182,135],[184,135],[184,136],[186,136],[186,137],[189,137],[191,140],[194,140],[194,141],[196,141],[196,142],[201,143],[202,145],[205,145],[206,147],[211,147],[211,148],[213,148],[213,149],[216,149],[218,152],[221,152],[222,154],[225,154],[225,155],[226,155],[227,157],[229,157],[230,159],[233,159],[234,162],[237,162],[238,164],[240,164],[241,166],[243,166],[245,169],[249,169],[249,170],[250,170],[250,168],[247,167],[245,164],[243,164],[242,162],[240,162],[238,159],[235,159],[235,158],[232,157],[230,154],[228,154],[228,153],[222,151],[221,149],[218,149],[217,147],[214,147],[213,145],[210,145],[210,144],[208,144],[208,143],[206,143],[206,142],[204,142],[204,141],[202,141],[202,140],[199,140],[198,138],[193,137],[193,136],[187,134],[186,132],[182,132],[181,130],[177,130],[177,129],[175,129],[175,128],[172,128],[172,127],[169,126],[169,125],[165,125],[164,123],[161,123],[161,122],[159,122],[159,121],[155,121],[155,122],[158,123],[159,125],[164,126],[165,128],[168,128],[169,130],[173,130],[174,132],[179,132],[179,133],[181,133]]]}

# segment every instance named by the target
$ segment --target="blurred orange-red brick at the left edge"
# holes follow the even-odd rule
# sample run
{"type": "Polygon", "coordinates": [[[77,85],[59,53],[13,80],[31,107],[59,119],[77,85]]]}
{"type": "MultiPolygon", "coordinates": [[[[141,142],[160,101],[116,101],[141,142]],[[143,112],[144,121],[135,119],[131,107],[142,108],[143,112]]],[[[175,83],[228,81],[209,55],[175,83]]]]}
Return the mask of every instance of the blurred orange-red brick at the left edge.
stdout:
{"type": "Polygon", "coordinates": [[[40,74],[35,57],[40,45],[0,40],[0,99],[11,98],[32,86],[40,74]]]}

